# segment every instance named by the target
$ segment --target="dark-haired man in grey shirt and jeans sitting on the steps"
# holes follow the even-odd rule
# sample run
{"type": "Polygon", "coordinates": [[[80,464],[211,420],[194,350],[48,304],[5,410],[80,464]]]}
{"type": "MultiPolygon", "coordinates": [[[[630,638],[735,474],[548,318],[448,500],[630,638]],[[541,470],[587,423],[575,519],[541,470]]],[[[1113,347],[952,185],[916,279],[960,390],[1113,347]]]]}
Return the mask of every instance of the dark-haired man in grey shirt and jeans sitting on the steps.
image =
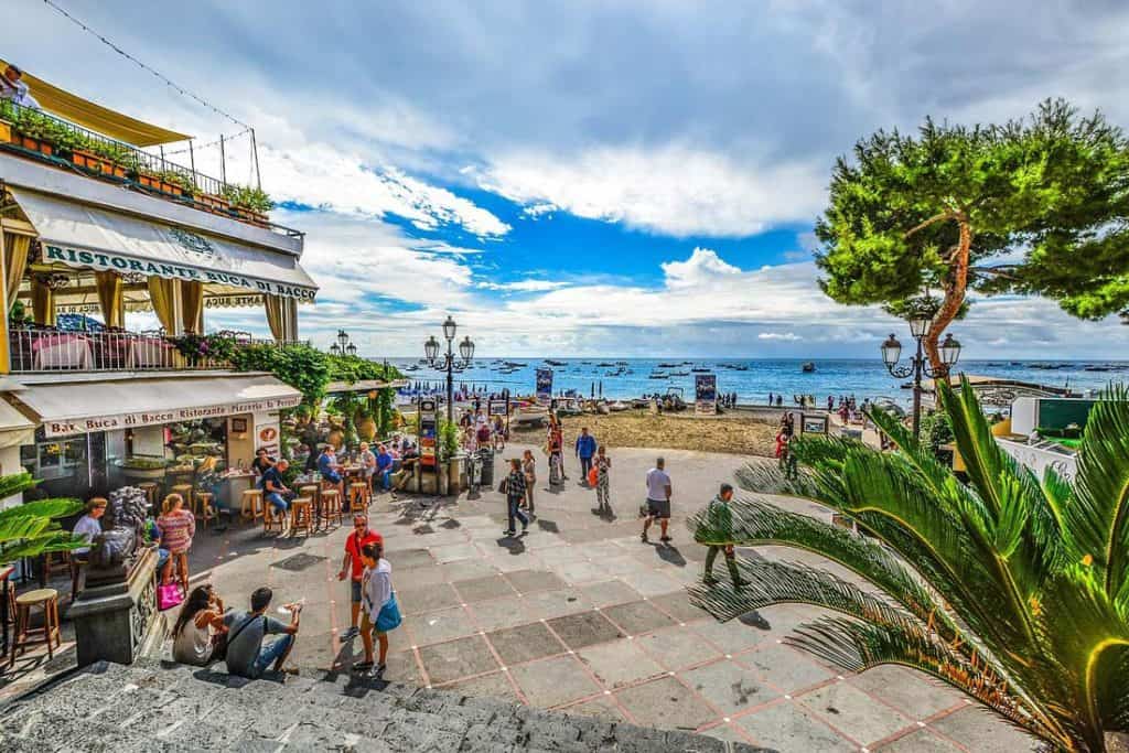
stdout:
{"type": "Polygon", "coordinates": [[[228,610],[224,614],[227,625],[227,671],[237,677],[254,680],[263,671],[274,664],[274,671],[281,672],[282,664],[290,656],[294,641],[298,634],[298,622],[301,616],[301,604],[287,604],[282,608],[290,612],[290,624],[282,624],[271,616],[266,610],[274,597],[266,586],[256,588],[251,594],[251,611],[228,610]],[[264,642],[266,636],[281,636],[264,642]]]}

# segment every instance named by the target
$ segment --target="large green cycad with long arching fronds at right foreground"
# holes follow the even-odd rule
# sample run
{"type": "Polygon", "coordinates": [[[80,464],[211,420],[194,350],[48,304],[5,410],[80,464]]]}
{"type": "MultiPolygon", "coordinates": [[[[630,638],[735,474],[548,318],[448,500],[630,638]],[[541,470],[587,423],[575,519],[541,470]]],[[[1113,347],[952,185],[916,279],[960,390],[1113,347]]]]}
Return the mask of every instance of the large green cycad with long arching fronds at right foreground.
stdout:
{"type": "Polygon", "coordinates": [[[1039,479],[995,443],[971,386],[940,385],[968,469],[962,483],[893,418],[882,453],[838,438],[794,443],[800,472],[749,466],[729,529],[701,514],[703,544],[774,544],[822,554],[868,581],[786,561],[743,560],[749,585],[691,588],[719,620],[778,603],[839,614],[788,640],[849,671],[901,664],[964,691],[1065,751],[1105,751],[1129,729],[1129,394],[1093,408],[1070,481],[1039,479]],[[814,500],[861,533],[791,513],[814,500]]]}

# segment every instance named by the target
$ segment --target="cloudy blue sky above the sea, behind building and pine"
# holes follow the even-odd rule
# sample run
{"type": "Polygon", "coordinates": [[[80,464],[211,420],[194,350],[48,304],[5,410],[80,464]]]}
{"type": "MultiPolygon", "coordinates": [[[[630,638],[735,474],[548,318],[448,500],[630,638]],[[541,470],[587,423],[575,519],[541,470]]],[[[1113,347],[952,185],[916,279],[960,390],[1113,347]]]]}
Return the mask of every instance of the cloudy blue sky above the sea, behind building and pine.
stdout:
{"type": "MultiPolygon", "coordinates": [[[[839,155],[1058,96],[1129,126],[1114,1],[58,2],[255,126],[321,286],[300,335],[374,357],[421,356],[450,314],[483,354],[873,358],[904,325],[828,299],[812,262],[839,155]]],[[[0,58],[195,134],[219,175],[208,145],[239,125],[42,0],[2,5],[0,58]]],[[[251,182],[250,138],[225,154],[251,182]]],[[[952,331],[965,358],[1129,358],[1114,317],[1039,298],[975,300],[952,331]]]]}

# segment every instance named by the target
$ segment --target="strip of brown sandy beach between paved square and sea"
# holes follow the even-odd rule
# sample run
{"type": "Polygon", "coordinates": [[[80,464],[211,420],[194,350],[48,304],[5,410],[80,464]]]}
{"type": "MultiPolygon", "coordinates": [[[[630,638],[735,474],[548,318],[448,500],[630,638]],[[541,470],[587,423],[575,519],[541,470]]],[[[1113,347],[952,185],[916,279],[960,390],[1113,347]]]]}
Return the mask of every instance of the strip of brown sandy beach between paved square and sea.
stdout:
{"type": "MultiPolygon", "coordinates": [[[[575,441],[581,427],[597,441],[616,447],[692,449],[733,455],[771,457],[774,450],[776,422],[744,411],[724,415],[625,411],[609,415],[577,415],[563,419],[566,444],[575,441]]],[[[517,441],[543,444],[544,427],[513,430],[517,441]]]]}

